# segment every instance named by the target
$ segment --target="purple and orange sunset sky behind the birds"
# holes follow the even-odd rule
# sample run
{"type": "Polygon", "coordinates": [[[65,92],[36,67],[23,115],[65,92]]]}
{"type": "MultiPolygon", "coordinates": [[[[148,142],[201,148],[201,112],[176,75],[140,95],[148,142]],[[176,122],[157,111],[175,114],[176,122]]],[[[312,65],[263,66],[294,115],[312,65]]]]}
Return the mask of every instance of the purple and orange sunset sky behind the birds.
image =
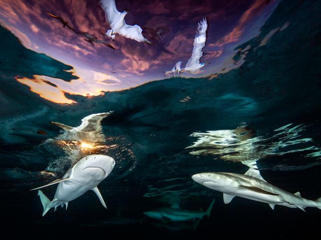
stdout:
{"type": "Polygon", "coordinates": [[[72,66],[78,76],[71,82],[44,75],[16,80],[48,101],[71,104],[64,93],[97,96],[164,78],[191,57],[198,21],[206,17],[208,28],[201,62],[210,63],[197,74],[203,77],[238,67],[235,47],[260,33],[279,0],[116,0],[119,11],[129,10],[125,21],[137,24],[155,46],[116,35],[112,42],[103,33],[110,29],[99,0],[0,0],[0,23],[22,44],[72,66]],[[47,12],[62,17],[76,31],[110,41],[116,50],[86,42],[47,12]],[[158,36],[156,33],[161,32],[158,36]],[[223,69],[223,70],[222,70],[223,69]],[[51,82],[53,84],[48,84],[51,82]]]}

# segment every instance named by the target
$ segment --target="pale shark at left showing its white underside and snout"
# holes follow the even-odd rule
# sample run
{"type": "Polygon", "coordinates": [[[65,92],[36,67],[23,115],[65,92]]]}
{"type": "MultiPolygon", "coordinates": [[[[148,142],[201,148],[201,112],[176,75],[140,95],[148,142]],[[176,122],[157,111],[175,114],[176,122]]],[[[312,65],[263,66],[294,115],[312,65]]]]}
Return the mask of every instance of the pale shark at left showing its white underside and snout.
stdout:
{"type": "Polygon", "coordinates": [[[115,160],[112,157],[106,155],[89,155],[80,159],[73,168],[65,173],[62,179],[56,179],[47,185],[32,189],[37,190],[58,183],[52,201],[50,201],[41,190],[38,191],[43,206],[42,216],[52,207],[54,207],[56,211],[57,206],[63,207],[66,205],[67,210],[70,201],[75,200],[89,190],[92,190],[99,198],[101,204],[107,208],[97,185],[113,171],[114,166],[115,160]]]}

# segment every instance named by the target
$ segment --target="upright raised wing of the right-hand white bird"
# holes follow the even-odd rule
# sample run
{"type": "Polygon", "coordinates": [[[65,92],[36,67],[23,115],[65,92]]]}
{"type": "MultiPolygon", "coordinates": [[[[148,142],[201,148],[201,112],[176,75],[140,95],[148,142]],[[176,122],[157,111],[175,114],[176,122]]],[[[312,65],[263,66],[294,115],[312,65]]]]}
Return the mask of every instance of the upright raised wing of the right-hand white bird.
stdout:
{"type": "Polygon", "coordinates": [[[190,67],[195,64],[200,64],[200,58],[203,54],[203,52],[201,50],[205,46],[206,29],[207,29],[206,18],[203,18],[199,22],[199,25],[198,25],[198,28],[197,28],[197,31],[195,34],[192,57],[188,60],[185,68],[190,67]]]}

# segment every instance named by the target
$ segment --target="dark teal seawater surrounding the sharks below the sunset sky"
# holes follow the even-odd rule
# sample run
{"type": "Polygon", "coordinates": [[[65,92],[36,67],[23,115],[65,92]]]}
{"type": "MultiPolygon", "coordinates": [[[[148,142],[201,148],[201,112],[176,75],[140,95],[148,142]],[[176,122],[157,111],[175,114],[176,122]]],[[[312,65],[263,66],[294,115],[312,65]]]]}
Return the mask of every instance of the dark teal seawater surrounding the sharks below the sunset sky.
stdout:
{"type": "MultiPolygon", "coordinates": [[[[244,173],[248,167],[241,160],[259,159],[261,175],[269,183],[291,193],[300,191],[307,199],[321,197],[320,13],[320,1],[282,0],[261,33],[239,46],[234,59],[244,61],[240,68],[211,80],[170,78],[90,99],[68,96],[78,102],[69,106],[41,99],[14,77],[43,74],[68,81],[72,76],[63,69],[71,67],[25,49],[1,28],[0,207],[4,230],[106,238],[131,234],[283,238],[318,233],[318,208],[304,212],[276,206],[272,210],[267,204],[239,197],[224,205],[222,193],[194,182],[191,175],[244,173]],[[284,24],[288,26],[281,31],[284,24]],[[54,141],[43,143],[59,135],[50,120],[79,126],[83,117],[110,110],[115,112],[102,121],[107,147],[97,150],[116,160],[114,171],[99,185],[108,209],[93,192],[87,192],[71,202],[67,211],[50,210],[41,217],[39,197],[29,190],[61,177],[77,161],[73,156],[91,153],[84,151],[75,157],[54,141]],[[235,145],[186,149],[206,131],[242,126],[247,126],[245,138],[235,145]],[[48,135],[37,134],[39,129],[48,135]],[[206,209],[214,198],[209,219],[204,217],[196,231],[193,222],[164,223],[143,214],[172,204],[188,210],[206,209]]],[[[43,192],[51,199],[55,190],[51,186],[43,192]]]]}

